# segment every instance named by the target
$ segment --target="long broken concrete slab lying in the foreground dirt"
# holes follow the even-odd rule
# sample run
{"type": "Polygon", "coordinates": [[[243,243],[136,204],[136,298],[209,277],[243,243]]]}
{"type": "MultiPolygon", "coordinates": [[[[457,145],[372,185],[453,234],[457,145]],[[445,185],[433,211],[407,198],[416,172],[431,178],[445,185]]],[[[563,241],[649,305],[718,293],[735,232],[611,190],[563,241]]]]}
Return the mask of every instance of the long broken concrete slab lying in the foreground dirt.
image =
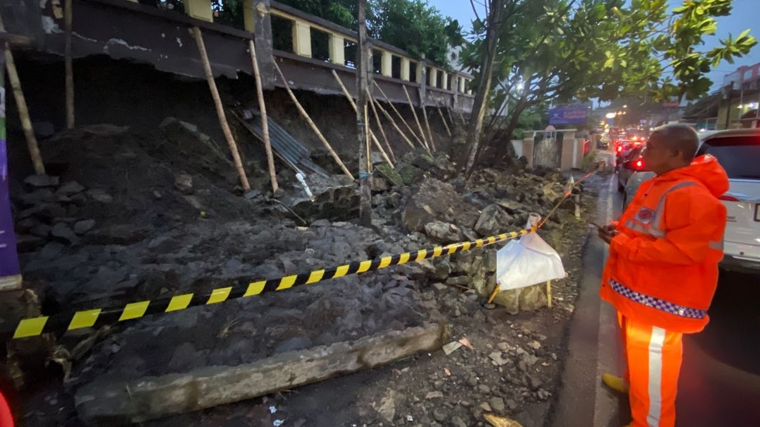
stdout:
{"type": "Polygon", "coordinates": [[[244,365],[209,366],[132,381],[99,379],[80,387],[74,399],[87,425],[128,425],[251,399],[438,350],[443,333],[442,324],[426,323],[244,365]]]}

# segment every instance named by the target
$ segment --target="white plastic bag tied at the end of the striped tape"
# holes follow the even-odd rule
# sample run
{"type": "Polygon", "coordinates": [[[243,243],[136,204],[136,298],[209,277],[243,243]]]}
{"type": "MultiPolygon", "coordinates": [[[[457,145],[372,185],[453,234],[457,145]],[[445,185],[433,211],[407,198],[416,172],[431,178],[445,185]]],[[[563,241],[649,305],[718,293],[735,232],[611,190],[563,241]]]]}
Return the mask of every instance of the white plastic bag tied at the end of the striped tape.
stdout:
{"type": "MultiPolygon", "coordinates": [[[[526,229],[536,226],[541,217],[530,213],[526,229]]],[[[496,283],[499,289],[518,289],[547,280],[565,277],[562,258],[548,243],[532,232],[511,240],[496,252],[496,283]]]]}

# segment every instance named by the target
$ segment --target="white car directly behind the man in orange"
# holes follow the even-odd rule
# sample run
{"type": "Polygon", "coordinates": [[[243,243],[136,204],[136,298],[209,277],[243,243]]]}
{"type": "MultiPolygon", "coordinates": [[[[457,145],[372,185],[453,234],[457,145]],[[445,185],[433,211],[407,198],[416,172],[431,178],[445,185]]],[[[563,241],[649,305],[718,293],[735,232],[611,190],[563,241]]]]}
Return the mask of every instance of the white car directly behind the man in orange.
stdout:
{"type": "MultiPolygon", "coordinates": [[[[724,236],[727,270],[760,270],[760,128],[710,134],[698,156],[711,154],[728,173],[730,189],[720,197],[728,208],[724,236]]],[[[628,207],[641,183],[653,172],[635,172],[625,184],[623,207],[628,207]]]]}

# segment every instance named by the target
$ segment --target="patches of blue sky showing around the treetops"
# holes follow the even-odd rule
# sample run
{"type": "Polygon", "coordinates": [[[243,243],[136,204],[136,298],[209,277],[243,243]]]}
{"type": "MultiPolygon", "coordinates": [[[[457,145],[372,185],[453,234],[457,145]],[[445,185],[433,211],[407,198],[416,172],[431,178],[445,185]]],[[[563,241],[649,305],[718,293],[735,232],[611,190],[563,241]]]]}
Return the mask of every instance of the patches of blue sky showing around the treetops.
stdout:
{"type": "MultiPolygon", "coordinates": [[[[483,2],[487,0],[473,0],[478,9],[477,13],[480,17],[485,14],[485,8],[483,2]]],[[[437,8],[445,16],[450,16],[459,21],[459,24],[464,27],[464,30],[470,30],[472,27],[472,21],[475,19],[475,12],[470,5],[470,0],[427,0],[429,5],[437,8]]],[[[679,0],[670,0],[670,5],[680,5],[679,0]]],[[[734,37],[738,36],[743,30],[750,29],[750,33],[760,40],[760,0],[733,0],[733,10],[730,16],[717,18],[717,33],[715,36],[705,37],[705,46],[702,46],[702,50],[709,50],[714,47],[720,46],[720,39],[725,39],[729,33],[734,37]]],[[[739,68],[740,65],[754,65],[760,62],[760,44],[752,48],[749,55],[740,58],[733,64],[722,62],[713,71],[708,74],[708,77],[713,81],[713,90],[717,90],[720,87],[720,83],[723,81],[725,74],[730,74],[739,68]]]]}

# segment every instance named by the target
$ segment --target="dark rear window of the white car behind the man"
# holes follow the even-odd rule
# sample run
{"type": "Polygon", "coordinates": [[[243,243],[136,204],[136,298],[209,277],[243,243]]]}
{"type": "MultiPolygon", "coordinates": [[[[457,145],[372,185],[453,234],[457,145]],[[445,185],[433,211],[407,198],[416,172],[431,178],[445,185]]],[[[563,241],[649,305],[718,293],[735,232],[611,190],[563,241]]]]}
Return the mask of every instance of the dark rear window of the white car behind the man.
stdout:
{"type": "Polygon", "coordinates": [[[760,134],[709,139],[699,154],[716,157],[730,179],[760,179],[760,134]]]}

